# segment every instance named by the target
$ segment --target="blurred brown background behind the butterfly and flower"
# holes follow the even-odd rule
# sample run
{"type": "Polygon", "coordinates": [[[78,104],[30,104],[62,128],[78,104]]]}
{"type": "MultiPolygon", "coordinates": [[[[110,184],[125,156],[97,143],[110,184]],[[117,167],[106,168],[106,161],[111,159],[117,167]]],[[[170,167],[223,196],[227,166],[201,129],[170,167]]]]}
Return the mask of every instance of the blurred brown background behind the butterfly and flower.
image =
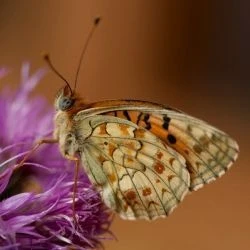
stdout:
{"type": "MultiPolygon", "coordinates": [[[[101,15],[78,84],[86,100],[167,103],[239,142],[240,158],[226,176],[188,196],[169,218],[129,222],[116,217],[112,231],[118,241],[106,242],[107,250],[249,248],[246,5],[232,0],[0,1],[0,65],[13,69],[5,83],[17,85],[24,60],[33,70],[45,66],[43,50],[73,82],[92,19],[101,15]]],[[[50,73],[36,91],[52,102],[61,86],[50,73]]]]}

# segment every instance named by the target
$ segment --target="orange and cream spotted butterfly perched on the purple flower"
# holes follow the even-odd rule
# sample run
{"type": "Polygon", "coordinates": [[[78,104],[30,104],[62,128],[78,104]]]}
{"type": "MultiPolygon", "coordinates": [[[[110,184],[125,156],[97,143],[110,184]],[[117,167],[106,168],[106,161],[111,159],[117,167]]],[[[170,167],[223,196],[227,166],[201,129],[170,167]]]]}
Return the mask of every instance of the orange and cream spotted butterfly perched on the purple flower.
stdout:
{"type": "MultiPolygon", "coordinates": [[[[236,160],[235,140],[177,109],[136,100],[86,104],[45,59],[66,86],[55,100],[53,139],[40,144],[58,143],[122,218],[168,216],[187,193],[222,176],[236,160]]],[[[73,193],[75,200],[76,185],[73,193]]]]}

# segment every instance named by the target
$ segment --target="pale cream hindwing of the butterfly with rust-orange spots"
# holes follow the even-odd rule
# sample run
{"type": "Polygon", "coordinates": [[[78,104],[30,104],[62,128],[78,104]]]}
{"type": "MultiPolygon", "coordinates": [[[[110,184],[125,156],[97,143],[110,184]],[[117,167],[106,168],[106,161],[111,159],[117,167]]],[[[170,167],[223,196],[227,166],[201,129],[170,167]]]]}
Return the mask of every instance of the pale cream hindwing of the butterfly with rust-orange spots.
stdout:
{"type": "Polygon", "coordinates": [[[121,217],[165,217],[188,192],[185,159],[150,131],[112,116],[77,119],[86,172],[121,217]]]}

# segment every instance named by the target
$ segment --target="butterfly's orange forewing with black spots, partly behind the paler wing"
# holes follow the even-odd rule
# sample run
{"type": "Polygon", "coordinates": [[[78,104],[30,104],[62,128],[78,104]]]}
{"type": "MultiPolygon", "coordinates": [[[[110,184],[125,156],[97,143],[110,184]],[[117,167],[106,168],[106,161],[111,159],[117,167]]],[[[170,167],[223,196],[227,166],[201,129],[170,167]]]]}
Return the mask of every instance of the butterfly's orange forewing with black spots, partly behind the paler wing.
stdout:
{"type": "Polygon", "coordinates": [[[79,116],[107,115],[128,120],[154,134],[182,155],[190,174],[190,190],[223,175],[238,155],[230,136],[179,110],[142,101],[104,101],[90,104],[79,116]]]}

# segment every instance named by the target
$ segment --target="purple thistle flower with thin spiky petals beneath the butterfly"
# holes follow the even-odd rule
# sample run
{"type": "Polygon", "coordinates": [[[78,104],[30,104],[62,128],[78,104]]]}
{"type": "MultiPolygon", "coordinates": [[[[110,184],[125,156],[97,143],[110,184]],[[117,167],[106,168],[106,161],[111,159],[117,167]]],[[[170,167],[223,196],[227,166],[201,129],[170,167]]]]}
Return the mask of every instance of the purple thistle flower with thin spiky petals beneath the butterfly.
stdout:
{"type": "MultiPolygon", "coordinates": [[[[0,69],[0,78],[7,71],[0,69]]],[[[90,249],[105,238],[110,216],[84,173],[77,184],[73,222],[72,163],[57,145],[42,145],[23,166],[18,162],[53,129],[53,112],[43,98],[29,94],[46,71],[21,69],[18,91],[0,93],[0,246],[1,249],[90,249]]]]}

